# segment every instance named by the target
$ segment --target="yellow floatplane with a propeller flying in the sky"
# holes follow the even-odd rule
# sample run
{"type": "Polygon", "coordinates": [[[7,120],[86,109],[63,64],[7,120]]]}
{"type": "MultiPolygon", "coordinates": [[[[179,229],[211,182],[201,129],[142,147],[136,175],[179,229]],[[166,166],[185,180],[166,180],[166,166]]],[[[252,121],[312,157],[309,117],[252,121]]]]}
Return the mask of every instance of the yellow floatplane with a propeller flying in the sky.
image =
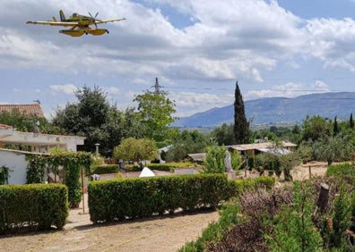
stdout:
{"type": "Polygon", "coordinates": [[[52,25],[52,26],[64,26],[64,27],[72,27],[71,29],[61,29],[59,30],[60,33],[65,35],[69,35],[72,37],[80,37],[83,34],[91,34],[94,36],[100,36],[105,33],[108,33],[108,29],[99,29],[98,24],[100,23],[107,23],[110,21],[124,21],[126,18],[121,19],[112,19],[112,20],[105,20],[100,21],[97,20],[96,17],[99,13],[93,17],[91,13],[90,16],[83,16],[78,13],[73,13],[71,17],[68,19],[65,18],[65,13],[60,10],[60,21],[56,20],[56,17],[53,17],[53,21],[27,21],[28,24],[43,24],[43,25],[52,25]]]}

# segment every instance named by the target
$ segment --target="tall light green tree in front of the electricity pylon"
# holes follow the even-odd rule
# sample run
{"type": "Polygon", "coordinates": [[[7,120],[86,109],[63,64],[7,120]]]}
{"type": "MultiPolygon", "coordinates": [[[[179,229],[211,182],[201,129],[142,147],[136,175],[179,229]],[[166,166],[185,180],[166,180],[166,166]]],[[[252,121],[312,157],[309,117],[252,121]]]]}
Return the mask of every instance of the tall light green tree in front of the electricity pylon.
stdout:
{"type": "Polygon", "coordinates": [[[138,103],[138,116],[144,126],[144,136],[157,142],[169,138],[169,125],[175,121],[172,116],[175,110],[174,101],[169,99],[169,93],[160,89],[158,78],[154,90],[145,90],[134,97],[138,103]]]}

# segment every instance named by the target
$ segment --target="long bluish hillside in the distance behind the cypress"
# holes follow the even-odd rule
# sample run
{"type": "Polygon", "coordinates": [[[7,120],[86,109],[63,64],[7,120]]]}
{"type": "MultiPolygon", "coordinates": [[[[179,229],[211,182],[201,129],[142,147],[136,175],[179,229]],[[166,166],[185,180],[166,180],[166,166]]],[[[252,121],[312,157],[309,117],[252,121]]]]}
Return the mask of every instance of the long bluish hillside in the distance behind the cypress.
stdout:
{"type": "MultiPolygon", "coordinates": [[[[306,115],[319,114],[348,120],[355,111],[355,92],[323,93],[294,98],[272,97],[245,101],[246,115],[253,125],[302,122],[306,115]]],[[[234,122],[234,105],[212,108],[202,113],[181,117],[173,126],[212,127],[234,122]]]]}

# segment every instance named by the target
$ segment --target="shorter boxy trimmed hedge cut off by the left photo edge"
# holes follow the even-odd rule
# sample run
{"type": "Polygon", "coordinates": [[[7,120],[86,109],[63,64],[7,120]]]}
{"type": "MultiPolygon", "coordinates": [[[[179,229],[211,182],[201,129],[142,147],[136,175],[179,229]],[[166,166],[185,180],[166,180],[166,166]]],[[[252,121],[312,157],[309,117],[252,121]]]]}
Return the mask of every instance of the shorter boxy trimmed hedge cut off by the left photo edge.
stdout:
{"type": "Polygon", "coordinates": [[[0,186],[0,234],[61,230],[68,216],[68,189],[61,184],[0,186]]]}

